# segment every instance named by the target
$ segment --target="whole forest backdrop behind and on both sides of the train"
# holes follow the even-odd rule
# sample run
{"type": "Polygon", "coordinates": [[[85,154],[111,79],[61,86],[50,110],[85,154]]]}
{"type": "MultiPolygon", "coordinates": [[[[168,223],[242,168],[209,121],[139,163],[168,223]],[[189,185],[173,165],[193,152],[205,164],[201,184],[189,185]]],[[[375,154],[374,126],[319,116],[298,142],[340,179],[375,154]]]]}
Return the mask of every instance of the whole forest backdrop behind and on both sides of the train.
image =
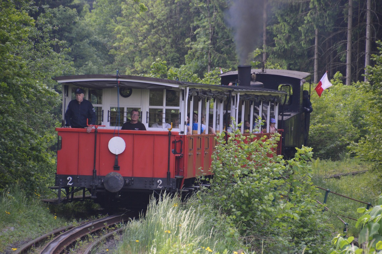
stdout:
{"type": "Polygon", "coordinates": [[[56,76],[145,75],[219,84],[219,67],[328,71],[312,93],[314,157],[382,162],[377,2],[343,0],[3,0],[0,2],[0,188],[53,183],[56,76]],[[366,68],[366,76],[365,74],[366,68]]]}

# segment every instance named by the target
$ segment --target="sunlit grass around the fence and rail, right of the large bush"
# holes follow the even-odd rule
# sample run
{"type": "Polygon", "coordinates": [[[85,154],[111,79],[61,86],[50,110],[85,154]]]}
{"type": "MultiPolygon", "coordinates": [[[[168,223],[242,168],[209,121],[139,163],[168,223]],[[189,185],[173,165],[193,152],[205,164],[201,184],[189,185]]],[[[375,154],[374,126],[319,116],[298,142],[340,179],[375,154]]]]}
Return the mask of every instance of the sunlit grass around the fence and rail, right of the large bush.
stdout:
{"type": "MultiPolygon", "coordinates": [[[[344,159],[342,161],[332,162],[330,160],[313,160],[312,161],[312,181],[314,185],[329,189],[330,192],[327,196],[325,206],[329,208],[329,211],[325,212],[330,215],[330,220],[335,226],[338,232],[342,232],[346,226],[338,217],[340,217],[345,223],[348,224],[348,235],[356,236],[359,232],[359,228],[355,228],[355,220],[361,217],[356,210],[359,207],[366,207],[367,204],[375,204],[376,199],[380,194],[380,190],[377,186],[376,172],[366,172],[357,175],[341,176],[340,178],[327,178],[328,176],[350,173],[355,171],[368,170],[370,165],[366,162],[362,162],[358,159],[344,159]],[[343,196],[336,195],[334,193],[341,194],[357,201],[348,199],[343,196]],[[358,202],[362,201],[362,202],[358,202]],[[337,217],[338,216],[338,217],[337,217]],[[349,217],[349,218],[347,218],[349,217]]],[[[326,191],[317,189],[322,196],[319,200],[324,202],[326,191]]]]}

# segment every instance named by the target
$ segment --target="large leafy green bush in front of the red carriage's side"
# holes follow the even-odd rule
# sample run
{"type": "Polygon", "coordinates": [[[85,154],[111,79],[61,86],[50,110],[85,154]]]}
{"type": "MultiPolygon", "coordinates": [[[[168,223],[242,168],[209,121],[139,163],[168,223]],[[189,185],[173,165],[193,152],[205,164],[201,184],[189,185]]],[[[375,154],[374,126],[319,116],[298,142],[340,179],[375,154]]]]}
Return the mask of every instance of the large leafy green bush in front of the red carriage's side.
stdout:
{"type": "Polygon", "coordinates": [[[272,151],[278,134],[253,142],[247,140],[253,136],[235,134],[227,142],[220,134],[212,157],[209,192],[217,208],[253,249],[264,244],[269,253],[324,253],[330,227],[309,174],[311,149],[298,149],[295,158],[286,161],[272,151]]]}

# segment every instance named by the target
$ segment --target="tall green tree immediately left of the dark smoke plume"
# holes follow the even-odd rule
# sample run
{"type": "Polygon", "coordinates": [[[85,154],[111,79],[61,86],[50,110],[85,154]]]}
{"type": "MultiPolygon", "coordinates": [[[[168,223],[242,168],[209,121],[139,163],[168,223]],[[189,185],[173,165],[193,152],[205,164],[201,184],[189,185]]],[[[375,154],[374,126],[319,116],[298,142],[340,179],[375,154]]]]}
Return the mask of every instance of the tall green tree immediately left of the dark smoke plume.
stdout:
{"type": "Polygon", "coordinates": [[[189,50],[186,65],[199,77],[219,67],[235,67],[237,58],[232,31],[225,19],[225,0],[191,0],[193,36],[185,38],[189,50]]]}

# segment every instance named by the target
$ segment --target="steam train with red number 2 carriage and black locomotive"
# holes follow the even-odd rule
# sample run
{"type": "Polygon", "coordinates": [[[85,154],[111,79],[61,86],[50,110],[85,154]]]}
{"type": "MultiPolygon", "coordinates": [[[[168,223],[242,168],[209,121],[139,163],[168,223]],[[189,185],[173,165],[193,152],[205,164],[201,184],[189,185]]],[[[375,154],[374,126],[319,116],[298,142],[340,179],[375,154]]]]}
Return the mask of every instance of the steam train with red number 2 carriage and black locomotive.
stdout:
{"type": "Polygon", "coordinates": [[[91,198],[102,207],[139,207],[153,193],[195,191],[196,177],[210,174],[215,133],[232,131],[234,120],[248,121],[249,130],[244,124],[236,127],[244,135],[269,138],[266,123],[275,118],[281,134],[277,154],[293,154],[307,144],[309,114],[302,110],[302,98],[303,90],[311,89],[310,73],[238,66],[219,76],[217,85],[118,72],[57,77],[62,126],[78,87],[96,112],[91,133],[56,128],[57,173],[51,188],[58,190],[57,202],[91,198]],[[133,109],[146,131],[121,130],[133,109]],[[201,127],[187,133],[193,121],[201,127]],[[260,121],[264,130],[254,133],[260,121]]]}

